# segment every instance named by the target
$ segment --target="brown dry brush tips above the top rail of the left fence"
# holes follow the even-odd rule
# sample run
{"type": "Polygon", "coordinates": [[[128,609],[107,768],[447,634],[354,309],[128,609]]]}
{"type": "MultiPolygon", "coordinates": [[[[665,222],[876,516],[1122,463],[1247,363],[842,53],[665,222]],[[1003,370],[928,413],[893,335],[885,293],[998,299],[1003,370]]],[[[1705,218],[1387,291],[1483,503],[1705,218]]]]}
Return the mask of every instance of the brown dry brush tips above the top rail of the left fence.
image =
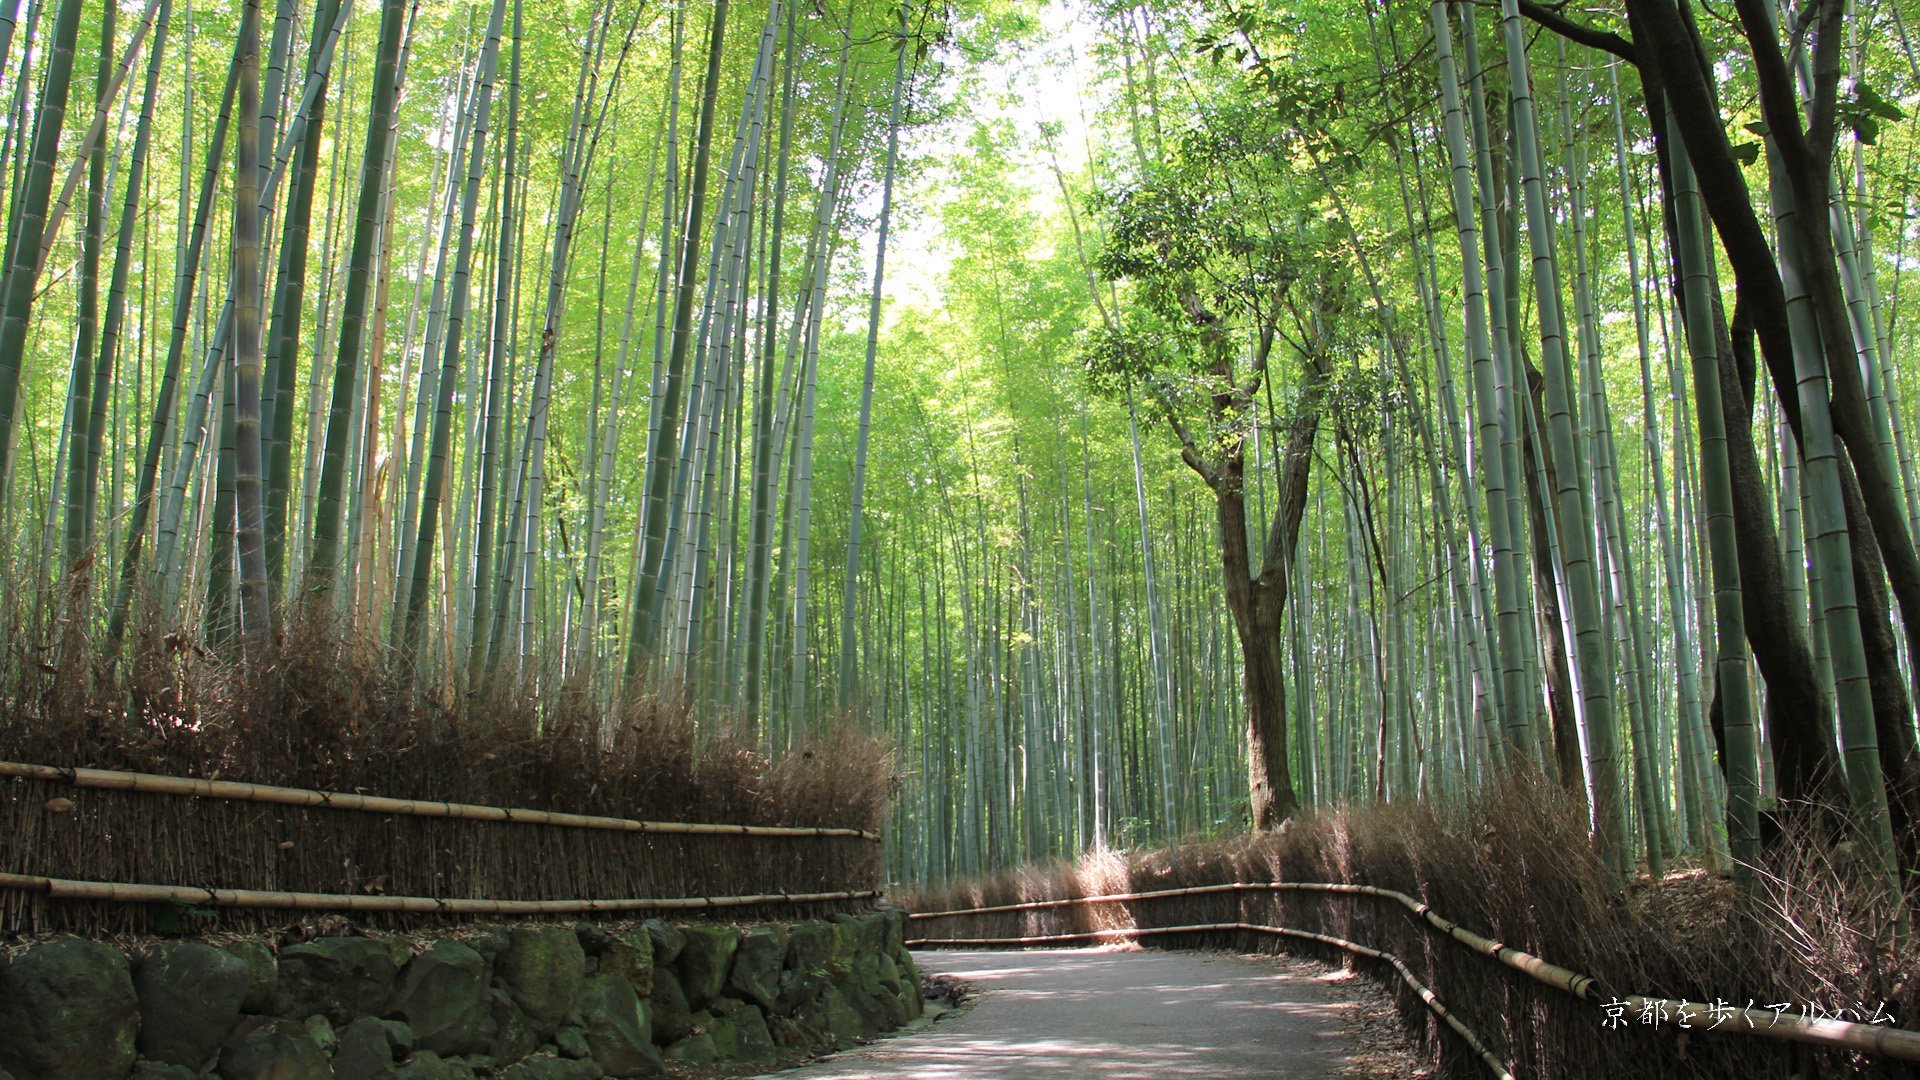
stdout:
{"type": "MultiPolygon", "coordinates": [[[[0,759],[217,776],[394,798],[741,824],[877,828],[889,748],[849,719],[770,755],[726,709],[645,688],[603,705],[584,680],[417,690],[384,636],[292,609],[248,663],[129,628],[109,663],[84,582],[52,603],[8,590],[0,759]]],[[[238,651],[238,650],[232,650],[238,651]]]]}

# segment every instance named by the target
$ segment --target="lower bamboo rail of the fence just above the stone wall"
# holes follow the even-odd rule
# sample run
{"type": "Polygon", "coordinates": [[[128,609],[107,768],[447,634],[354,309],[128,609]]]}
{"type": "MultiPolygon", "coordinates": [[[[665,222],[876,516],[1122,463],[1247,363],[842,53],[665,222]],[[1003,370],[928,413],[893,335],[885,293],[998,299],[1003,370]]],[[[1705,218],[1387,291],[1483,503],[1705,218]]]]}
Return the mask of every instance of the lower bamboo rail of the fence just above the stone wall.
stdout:
{"type": "Polygon", "coordinates": [[[866,892],[774,892],[760,896],[687,896],[659,899],[465,899],[432,896],[361,896],[334,892],[267,892],[246,888],[140,886],[79,882],[38,874],[0,874],[0,888],[44,892],[54,899],[109,903],[190,903],[202,907],[252,907],[294,911],[401,911],[413,915],[591,915],[601,911],[705,911],[762,903],[837,903],[879,899],[866,892]]]}

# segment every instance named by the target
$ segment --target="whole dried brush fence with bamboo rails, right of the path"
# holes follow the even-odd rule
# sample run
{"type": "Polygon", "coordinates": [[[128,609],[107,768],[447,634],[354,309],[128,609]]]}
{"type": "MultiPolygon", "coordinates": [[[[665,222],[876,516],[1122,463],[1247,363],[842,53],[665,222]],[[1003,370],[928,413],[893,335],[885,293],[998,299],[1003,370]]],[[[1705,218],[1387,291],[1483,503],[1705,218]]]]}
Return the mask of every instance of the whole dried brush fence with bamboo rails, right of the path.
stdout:
{"type": "Polygon", "coordinates": [[[1920,1076],[1920,957],[1862,947],[1843,880],[1809,882],[1778,874],[1747,915],[1711,876],[1622,894],[1555,792],[1513,786],[1475,807],[1342,811],[899,903],[927,944],[1271,951],[1286,938],[1329,959],[1356,944],[1390,953],[1405,980],[1359,967],[1400,988],[1444,1076],[1920,1076]],[[1444,1036],[1453,1022],[1427,995],[1486,1053],[1444,1036]]]}

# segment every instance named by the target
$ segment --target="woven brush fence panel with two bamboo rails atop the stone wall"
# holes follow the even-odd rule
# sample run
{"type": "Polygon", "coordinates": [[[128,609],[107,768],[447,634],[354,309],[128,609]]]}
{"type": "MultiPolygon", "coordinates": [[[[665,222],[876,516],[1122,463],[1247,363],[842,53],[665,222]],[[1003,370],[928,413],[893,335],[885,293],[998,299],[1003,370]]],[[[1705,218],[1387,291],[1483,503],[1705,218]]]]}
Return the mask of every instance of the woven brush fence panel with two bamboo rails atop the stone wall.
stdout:
{"type": "Polygon", "coordinates": [[[351,913],[724,909],[810,919],[877,897],[854,828],[643,822],[0,763],[0,934],[257,930],[351,913]]]}

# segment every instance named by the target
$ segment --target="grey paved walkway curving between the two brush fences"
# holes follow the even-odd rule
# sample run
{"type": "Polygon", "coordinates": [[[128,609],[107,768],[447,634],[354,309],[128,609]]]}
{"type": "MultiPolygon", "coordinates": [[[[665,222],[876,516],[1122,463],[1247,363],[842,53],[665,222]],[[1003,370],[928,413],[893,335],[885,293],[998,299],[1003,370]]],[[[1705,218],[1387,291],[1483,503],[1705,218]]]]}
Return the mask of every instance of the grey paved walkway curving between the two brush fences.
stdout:
{"type": "Polygon", "coordinates": [[[1227,1080],[1325,1078],[1344,1057],[1327,986],[1213,953],[1041,949],[916,953],[977,1001],[920,1034],[787,1072],[868,1076],[1227,1080]]]}

